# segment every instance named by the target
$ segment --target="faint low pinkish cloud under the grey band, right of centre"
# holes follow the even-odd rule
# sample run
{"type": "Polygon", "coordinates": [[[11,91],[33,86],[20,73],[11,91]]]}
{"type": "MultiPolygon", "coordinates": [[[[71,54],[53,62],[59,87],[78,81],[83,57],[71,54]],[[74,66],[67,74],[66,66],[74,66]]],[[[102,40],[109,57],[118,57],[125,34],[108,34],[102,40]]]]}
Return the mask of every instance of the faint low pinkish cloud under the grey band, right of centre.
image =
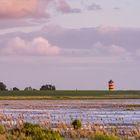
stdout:
{"type": "Polygon", "coordinates": [[[97,42],[93,45],[92,48],[84,48],[84,49],[63,49],[62,50],[64,55],[68,56],[91,56],[91,57],[126,57],[130,53],[121,46],[118,45],[109,45],[106,46],[101,42],[97,42]]]}

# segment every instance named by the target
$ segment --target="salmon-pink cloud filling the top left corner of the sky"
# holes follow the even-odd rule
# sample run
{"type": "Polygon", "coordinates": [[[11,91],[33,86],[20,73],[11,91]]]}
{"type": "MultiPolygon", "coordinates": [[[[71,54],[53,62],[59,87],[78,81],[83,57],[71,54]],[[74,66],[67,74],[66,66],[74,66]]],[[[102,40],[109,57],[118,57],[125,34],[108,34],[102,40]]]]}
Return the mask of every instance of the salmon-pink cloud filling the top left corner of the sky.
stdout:
{"type": "Polygon", "coordinates": [[[41,17],[50,0],[0,0],[0,18],[41,17]]]}

